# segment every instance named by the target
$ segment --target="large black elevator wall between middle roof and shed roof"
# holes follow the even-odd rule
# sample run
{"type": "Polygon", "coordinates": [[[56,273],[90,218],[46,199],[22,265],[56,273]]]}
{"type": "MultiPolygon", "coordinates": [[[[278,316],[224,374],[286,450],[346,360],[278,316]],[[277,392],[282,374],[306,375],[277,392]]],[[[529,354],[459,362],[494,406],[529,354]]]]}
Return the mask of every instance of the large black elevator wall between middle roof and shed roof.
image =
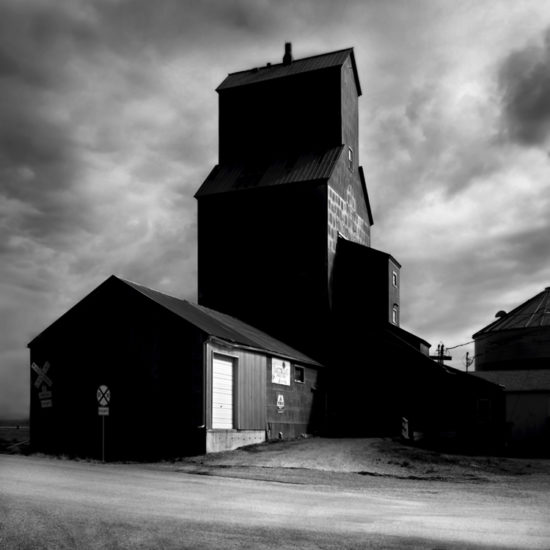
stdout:
{"type": "Polygon", "coordinates": [[[203,197],[198,216],[199,304],[322,359],[329,314],[326,185],[203,197]]]}

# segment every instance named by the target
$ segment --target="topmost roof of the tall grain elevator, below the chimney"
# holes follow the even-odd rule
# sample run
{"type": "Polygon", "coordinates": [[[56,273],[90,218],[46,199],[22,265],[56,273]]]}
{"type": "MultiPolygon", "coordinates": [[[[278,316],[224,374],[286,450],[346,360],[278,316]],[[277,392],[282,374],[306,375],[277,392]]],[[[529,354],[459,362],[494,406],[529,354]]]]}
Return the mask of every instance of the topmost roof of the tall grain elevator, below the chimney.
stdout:
{"type": "Polygon", "coordinates": [[[284,63],[276,63],[274,65],[266,65],[263,67],[255,67],[246,71],[230,73],[225,80],[216,88],[220,92],[228,88],[236,88],[239,86],[247,86],[257,82],[265,82],[266,80],[274,80],[276,78],[284,78],[296,74],[327,69],[329,67],[338,67],[345,63],[348,57],[351,57],[351,65],[357,86],[357,95],[361,95],[361,84],[359,83],[359,74],[355,63],[353,48],[345,48],[335,52],[328,52],[311,57],[296,59],[285,65],[284,63]]]}

